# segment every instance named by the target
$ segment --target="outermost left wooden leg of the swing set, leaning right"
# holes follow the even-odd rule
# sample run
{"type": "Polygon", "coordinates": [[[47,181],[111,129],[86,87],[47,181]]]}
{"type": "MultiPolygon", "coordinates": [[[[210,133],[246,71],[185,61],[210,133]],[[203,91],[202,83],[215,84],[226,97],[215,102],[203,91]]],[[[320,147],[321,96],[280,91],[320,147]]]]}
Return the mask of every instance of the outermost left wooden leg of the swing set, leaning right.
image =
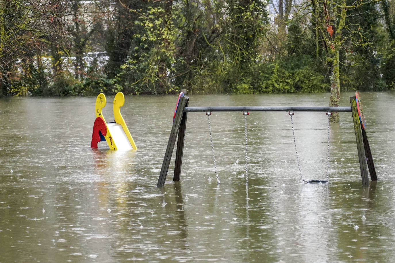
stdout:
{"type": "MultiPolygon", "coordinates": [[[[175,141],[177,139],[177,134],[179,133],[181,119],[184,116],[184,108],[189,101],[189,97],[180,97],[180,101],[177,106],[177,112],[174,117],[173,127],[171,128],[169,142],[167,143],[165,157],[162,163],[162,169],[160,170],[160,175],[158,179],[158,184],[156,187],[163,187],[165,185],[167,171],[169,170],[171,155],[173,154],[173,149],[175,141]]],[[[186,117],[186,116],[185,116],[186,117]]],[[[181,168],[181,163],[180,163],[181,168]]]]}

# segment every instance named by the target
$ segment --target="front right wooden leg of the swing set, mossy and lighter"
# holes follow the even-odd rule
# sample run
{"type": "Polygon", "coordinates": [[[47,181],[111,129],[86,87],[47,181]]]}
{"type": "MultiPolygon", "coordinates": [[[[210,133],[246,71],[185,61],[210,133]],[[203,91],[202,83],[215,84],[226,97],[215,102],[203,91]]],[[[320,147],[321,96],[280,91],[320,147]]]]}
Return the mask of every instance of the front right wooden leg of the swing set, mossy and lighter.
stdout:
{"type": "Polygon", "coordinates": [[[363,144],[361,121],[359,120],[357,101],[355,97],[350,97],[350,104],[352,110],[352,119],[354,121],[355,140],[357,142],[359,168],[361,169],[362,185],[364,187],[367,187],[369,186],[369,178],[368,178],[367,162],[365,155],[365,146],[363,144]]]}

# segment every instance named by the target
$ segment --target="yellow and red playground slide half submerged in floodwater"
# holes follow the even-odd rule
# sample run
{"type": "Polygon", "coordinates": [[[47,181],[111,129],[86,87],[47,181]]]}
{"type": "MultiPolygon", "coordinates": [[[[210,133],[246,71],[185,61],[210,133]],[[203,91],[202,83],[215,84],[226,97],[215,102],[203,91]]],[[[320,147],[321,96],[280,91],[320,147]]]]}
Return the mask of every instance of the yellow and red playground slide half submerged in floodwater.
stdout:
{"type": "Polygon", "coordinates": [[[111,150],[137,150],[132,135],[122,115],[120,107],[125,103],[125,97],[122,92],[115,95],[113,101],[114,122],[107,123],[104,119],[102,109],[105,107],[106,99],[103,93],[100,93],[96,98],[96,120],[92,132],[91,147],[97,148],[98,142],[106,141],[111,150]],[[102,119],[102,121],[100,120],[102,119]],[[103,127],[103,125],[105,127],[103,127]],[[100,139],[100,140],[99,140],[100,139]]]}

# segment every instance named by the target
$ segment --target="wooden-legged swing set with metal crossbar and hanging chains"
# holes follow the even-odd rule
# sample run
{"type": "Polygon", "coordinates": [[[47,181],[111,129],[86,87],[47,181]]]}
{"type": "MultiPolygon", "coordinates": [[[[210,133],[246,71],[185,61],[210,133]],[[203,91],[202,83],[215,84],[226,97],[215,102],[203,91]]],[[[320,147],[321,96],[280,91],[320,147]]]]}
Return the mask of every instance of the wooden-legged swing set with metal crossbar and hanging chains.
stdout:
{"type": "Polygon", "coordinates": [[[350,107],[308,107],[308,106],[206,106],[206,107],[190,107],[189,97],[184,96],[181,92],[175,112],[173,115],[173,127],[170,132],[169,142],[167,143],[166,153],[162,163],[162,169],[160,171],[157,187],[163,187],[166,181],[167,172],[169,170],[171,155],[174,150],[175,141],[177,139],[177,151],[175,157],[175,168],[173,181],[179,181],[181,175],[181,164],[182,155],[184,150],[184,139],[186,130],[186,119],[188,112],[205,112],[209,123],[209,133],[211,149],[213,153],[214,169],[218,185],[220,179],[218,177],[218,170],[216,167],[216,160],[214,155],[213,138],[211,134],[211,122],[210,115],[212,112],[242,112],[245,120],[245,160],[246,160],[246,185],[248,186],[248,154],[247,154],[247,116],[252,111],[271,111],[271,112],[288,112],[291,119],[293,145],[295,148],[295,155],[297,165],[299,168],[299,174],[303,183],[329,183],[329,128],[330,128],[330,116],[332,112],[352,112],[352,118],[354,122],[355,139],[357,143],[357,151],[359,158],[359,167],[361,170],[362,185],[364,187],[369,186],[368,169],[372,181],[377,181],[376,170],[372,159],[372,153],[367,139],[365,131],[365,117],[363,116],[361,99],[359,93],[355,92],[355,97],[350,97],[350,107]],[[328,136],[327,136],[327,173],[326,180],[310,180],[307,181],[301,172],[299,157],[297,153],[295,132],[293,129],[293,115],[295,112],[326,112],[328,116],[328,136]],[[178,138],[177,138],[178,135],[178,138]]]}

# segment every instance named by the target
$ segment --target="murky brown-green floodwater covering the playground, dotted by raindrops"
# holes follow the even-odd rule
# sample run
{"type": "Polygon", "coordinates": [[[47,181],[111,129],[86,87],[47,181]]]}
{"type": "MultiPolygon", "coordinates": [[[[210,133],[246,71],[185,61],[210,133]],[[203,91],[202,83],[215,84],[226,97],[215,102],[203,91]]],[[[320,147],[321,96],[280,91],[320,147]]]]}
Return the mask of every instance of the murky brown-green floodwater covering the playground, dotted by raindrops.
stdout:
{"type": "MultiPolygon", "coordinates": [[[[353,93],[342,94],[350,106],[353,93]]],[[[393,262],[395,92],[361,93],[378,175],[362,187],[350,112],[329,185],[303,184],[287,112],[188,113],[181,181],[156,188],[177,96],[127,96],[139,148],[90,148],[95,97],[0,100],[0,262],[393,262]],[[246,186],[246,174],[248,185],[246,186]]],[[[113,118],[113,97],[103,114],[113,118]]],[[[190,106],[327,106],[329,94],[190,95],[190,106]]],[[[326,179],[328,123],[296,112],[302,176],[326,179]]]]}

